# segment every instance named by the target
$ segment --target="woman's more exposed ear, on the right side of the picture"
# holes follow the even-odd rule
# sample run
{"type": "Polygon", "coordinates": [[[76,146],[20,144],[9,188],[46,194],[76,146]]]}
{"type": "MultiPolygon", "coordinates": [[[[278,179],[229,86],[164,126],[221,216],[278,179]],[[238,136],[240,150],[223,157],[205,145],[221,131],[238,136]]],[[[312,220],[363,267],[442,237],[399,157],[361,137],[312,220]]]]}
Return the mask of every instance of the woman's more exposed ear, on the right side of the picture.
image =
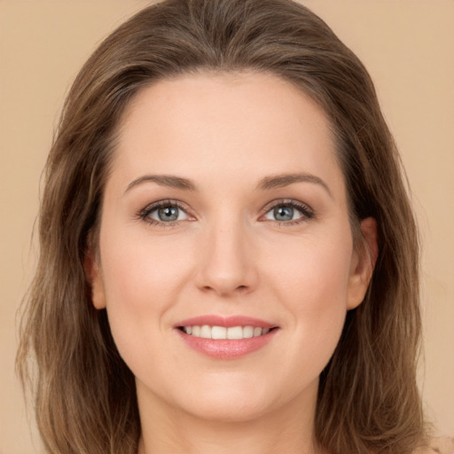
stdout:
{"type": "Polygon", "coordinates": [[[357,308],[364,300],[379,255],[377,221],[367,217],[361,221],[363,245],[355,247],[348,280],[347,309],[357,308]]]}

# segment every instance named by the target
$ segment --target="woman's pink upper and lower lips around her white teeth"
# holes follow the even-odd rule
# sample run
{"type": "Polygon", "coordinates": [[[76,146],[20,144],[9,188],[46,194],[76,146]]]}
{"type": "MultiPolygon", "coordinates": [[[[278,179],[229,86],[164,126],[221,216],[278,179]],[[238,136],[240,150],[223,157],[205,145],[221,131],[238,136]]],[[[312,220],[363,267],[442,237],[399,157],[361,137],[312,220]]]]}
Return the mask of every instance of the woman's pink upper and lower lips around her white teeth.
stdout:
{"type": "MultiPolygon", "coordinates": [[[[188,318],[187,320],[183,320],[175,325],[175,328],[194,325],[224,326],[226,328],[231,326],[254,326],[262,328],[276,327],[276,325],[271,325],[270,323],[259,320],[258,318],[243,316],[220,317],[213,315],[188,318]]],[[[221,340],[195,337],[184,333],[182,330],[176,329],[176,333],[178,333],[181,339],[184,340],[186,345],[206,356],[218,359],[236,359],[263,348],[274,338],[278,331],[278,329],[274,329],[262,336],[251,337],[248,339],[221,340]]]]}

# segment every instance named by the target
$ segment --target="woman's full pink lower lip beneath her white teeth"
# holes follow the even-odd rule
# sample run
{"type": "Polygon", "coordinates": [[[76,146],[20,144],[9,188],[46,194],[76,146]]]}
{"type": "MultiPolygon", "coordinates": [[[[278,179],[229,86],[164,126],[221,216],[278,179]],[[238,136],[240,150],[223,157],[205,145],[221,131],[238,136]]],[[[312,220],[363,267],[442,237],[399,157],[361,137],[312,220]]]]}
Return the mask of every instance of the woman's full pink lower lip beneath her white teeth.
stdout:
{"type": "Polygon", "coordinates": [[[178,329],[176,331],[186,342],[186,345],[204,355],[219,359],[236,359],[265,347],[274,338],[278,329],[273,329],[262,336],[238,340],[205,339],[186,334],[178,329]]]}

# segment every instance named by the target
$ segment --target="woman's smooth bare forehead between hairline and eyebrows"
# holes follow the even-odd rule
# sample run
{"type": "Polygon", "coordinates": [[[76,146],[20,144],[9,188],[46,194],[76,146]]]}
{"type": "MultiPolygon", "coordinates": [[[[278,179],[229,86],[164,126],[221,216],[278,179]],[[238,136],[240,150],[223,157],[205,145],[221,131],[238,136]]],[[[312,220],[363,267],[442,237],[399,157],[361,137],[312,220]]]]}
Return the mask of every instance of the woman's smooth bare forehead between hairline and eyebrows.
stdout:
{"type": "Polygon", "coordinates": [[[304,171],[343,185],[325,112],[275,75],[188,74],[155,82],[130,102],[119,132],[114,168],[129,178],[146,169],[205,179],[209,173],[219,183],[243,173],[253,182],[304,171]]]}

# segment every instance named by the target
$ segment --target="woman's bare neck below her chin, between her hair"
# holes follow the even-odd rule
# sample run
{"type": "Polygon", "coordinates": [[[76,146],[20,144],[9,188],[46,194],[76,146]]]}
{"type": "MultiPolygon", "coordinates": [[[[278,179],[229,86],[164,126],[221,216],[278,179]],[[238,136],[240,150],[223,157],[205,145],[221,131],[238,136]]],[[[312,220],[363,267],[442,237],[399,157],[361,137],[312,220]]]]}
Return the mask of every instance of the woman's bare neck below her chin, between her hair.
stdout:
{"type": "Polygon", "coordinates": [[[320,454],[313,442],[317,383],[313,393],[254,419],[201,419],[162,402],[137,397],[142,424],[138,454],[320,454]],[[146,399],[146,403],[144,402],[146,399]]]}

